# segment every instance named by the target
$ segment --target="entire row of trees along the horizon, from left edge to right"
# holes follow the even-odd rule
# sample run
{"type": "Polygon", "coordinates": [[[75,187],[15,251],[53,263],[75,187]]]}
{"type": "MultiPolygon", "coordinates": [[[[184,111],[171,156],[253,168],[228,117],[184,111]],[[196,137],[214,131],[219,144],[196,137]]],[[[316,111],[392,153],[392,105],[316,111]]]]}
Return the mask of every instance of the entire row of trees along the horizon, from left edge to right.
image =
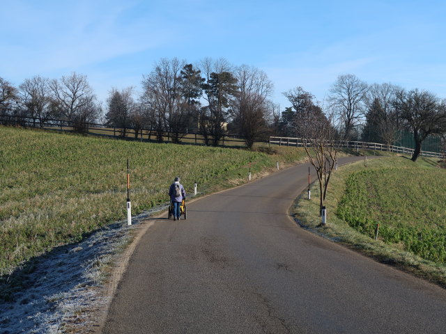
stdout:
{"type": "Polygon", "coordinates": [[[285,93],[291,106],[279,112],[270,100],[273,84],[265,72],[234,66],[224,58],[197,64],[162,58],[143,75],[141,92],[112,88],[105,106],[98,102],[86,76],[73,72],[61,79],[40,76],[15,87],[0,77],[0,114],[26,116],[36,125],[50,118],[68,120],[79,131],[89,122],[128,129],[137,136],[149,129],[158,141],[170,132],[180,143],[187,132],[199,133],[206,145],[218,145],[227,134],[239,134],[250,148],[268,136],[309,136],[309,127],[327,125],[340,140],[392,145],[401,130],[413,134],[415,161],[427,136],[446,133],[446,102],[426,90],[393,84],[367,84],[343,74],[323,102],[297,86],[285,93]]]}

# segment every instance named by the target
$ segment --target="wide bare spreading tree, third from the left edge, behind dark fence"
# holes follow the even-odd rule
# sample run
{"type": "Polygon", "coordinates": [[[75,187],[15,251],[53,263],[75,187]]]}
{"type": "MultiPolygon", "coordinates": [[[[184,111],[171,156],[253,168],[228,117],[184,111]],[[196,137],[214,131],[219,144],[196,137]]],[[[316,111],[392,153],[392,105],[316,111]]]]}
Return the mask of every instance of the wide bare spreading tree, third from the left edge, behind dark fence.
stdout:
{"type": "Polygon", "coordinates": [[[68,77],[54,79],[49,86],[59,111],[59,117],[71,121],[75,127],[84,129],[88,122],[98,117],[96,97],[85,75],[72,72],[68,77]]]}

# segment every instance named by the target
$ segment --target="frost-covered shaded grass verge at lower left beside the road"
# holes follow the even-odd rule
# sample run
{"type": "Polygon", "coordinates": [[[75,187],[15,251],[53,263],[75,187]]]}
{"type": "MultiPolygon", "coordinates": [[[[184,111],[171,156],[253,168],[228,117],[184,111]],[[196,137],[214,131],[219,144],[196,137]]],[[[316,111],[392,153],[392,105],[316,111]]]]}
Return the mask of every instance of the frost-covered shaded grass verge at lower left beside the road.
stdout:
{"type": "MultiPolygon", "coordinates": [[[[137,216],[133,223],[150,214],[137,216]]],[[[0,299],[0,334],[64,333],[67,328],[86,333],[93,326],[89,312],[107,303],[100,294],[101,268],[128,242],[129,230],[127,221],[114,223],[78,244],[54,248],[3,278],[7,283],[1,289],[10,292],[3,291],[8,298],[0,299]]]]}

